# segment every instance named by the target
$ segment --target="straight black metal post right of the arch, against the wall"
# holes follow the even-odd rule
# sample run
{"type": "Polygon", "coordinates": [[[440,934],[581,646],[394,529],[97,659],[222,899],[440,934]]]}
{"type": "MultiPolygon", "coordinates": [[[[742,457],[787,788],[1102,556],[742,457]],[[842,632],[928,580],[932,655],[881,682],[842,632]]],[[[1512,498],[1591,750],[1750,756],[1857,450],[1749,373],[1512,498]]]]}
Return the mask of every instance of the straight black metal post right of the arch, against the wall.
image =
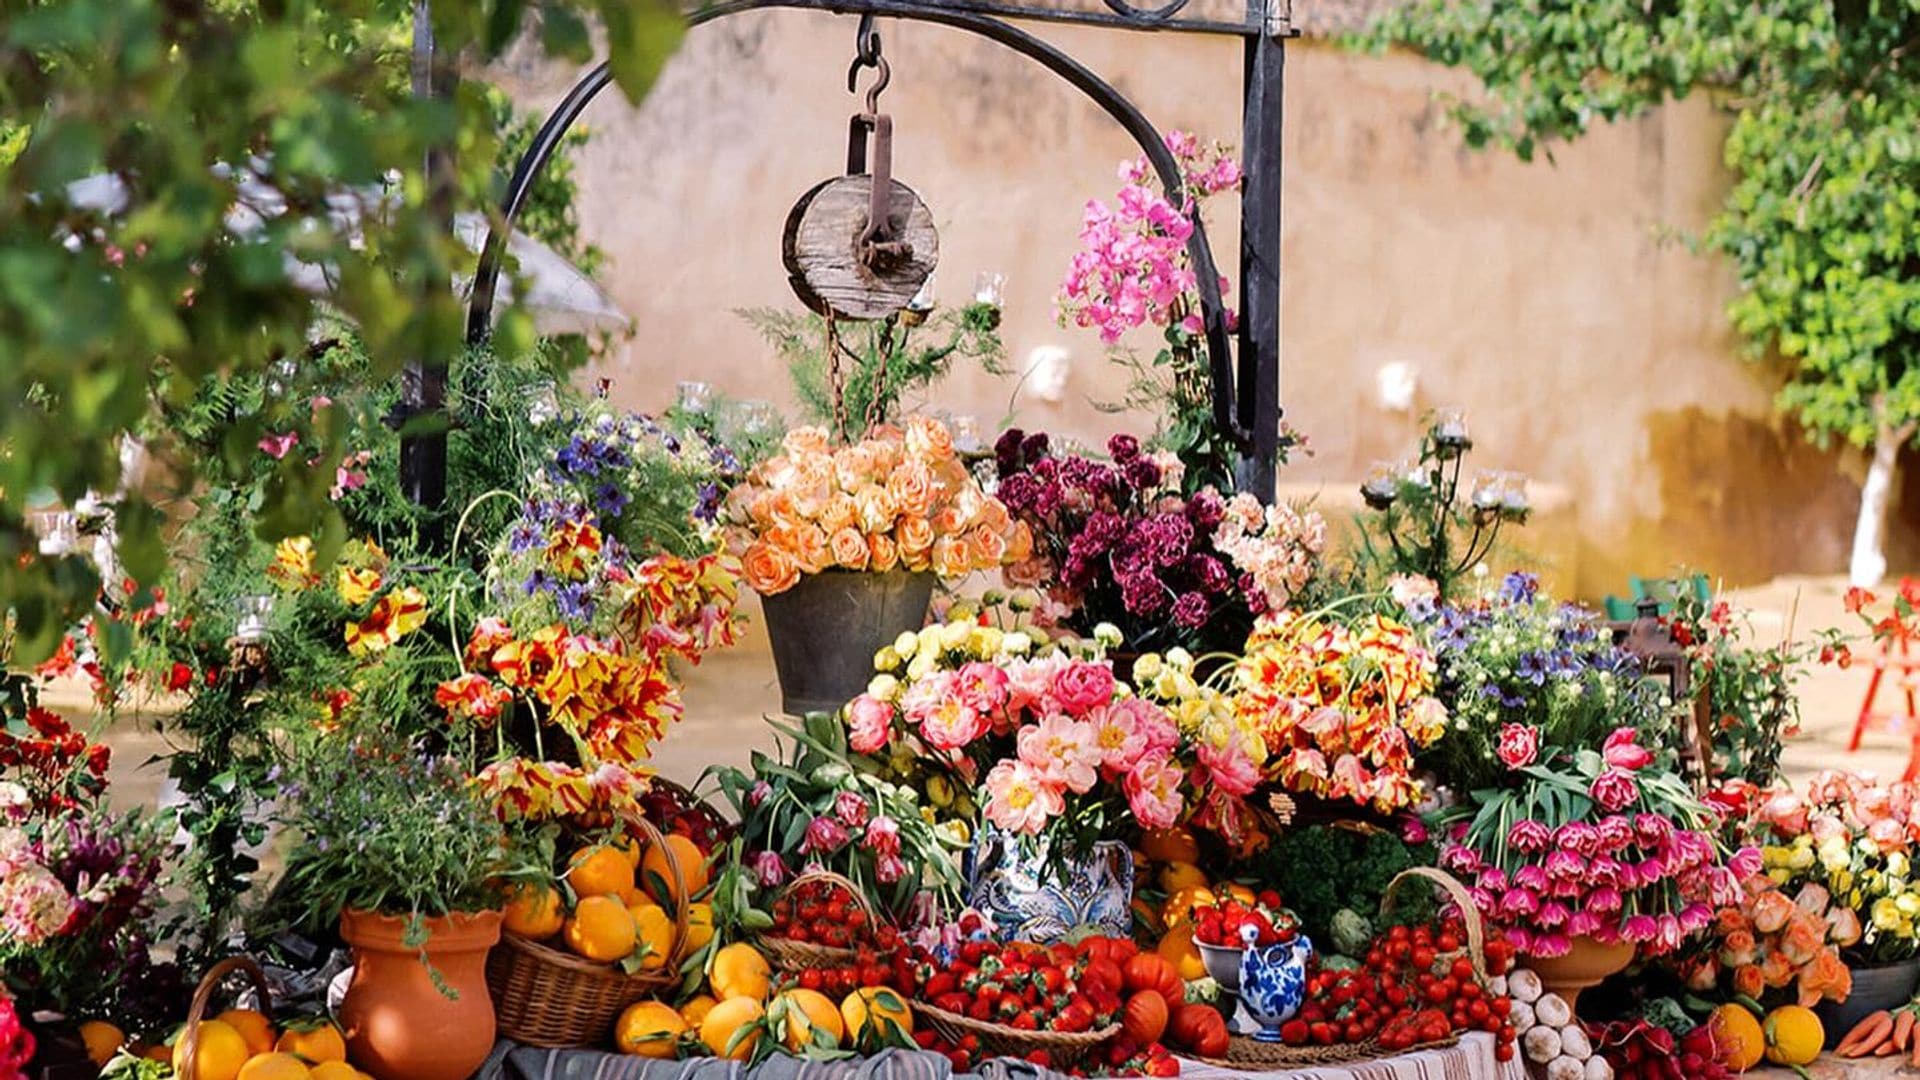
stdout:
{"type": "Polygon", "coordinates": [[[1246,38],[1240,152],[1238,423],[1252,436],[1240,490],[1273,502],[1281,452],[1281,131],[1284,110],[1284,0],[1246,0],[1260,33],[1246,38]]]}

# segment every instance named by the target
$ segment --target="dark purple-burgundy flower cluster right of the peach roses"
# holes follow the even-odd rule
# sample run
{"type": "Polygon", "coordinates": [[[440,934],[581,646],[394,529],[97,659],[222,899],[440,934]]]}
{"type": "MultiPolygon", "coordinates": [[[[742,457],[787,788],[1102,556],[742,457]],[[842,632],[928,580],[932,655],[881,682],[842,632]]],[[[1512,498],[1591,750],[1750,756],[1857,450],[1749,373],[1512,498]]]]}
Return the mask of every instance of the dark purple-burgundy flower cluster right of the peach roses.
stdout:
{"type": "Polygon", "coordinates": [[[1225,502],[1213,490],[1181,496],[1179,465],[1131,434],[1110,438],[1108,455],[1058,455],[1044,434],[1018,429],[1000,436],[995,494],[1035,536],[1033,559],[1010,567],[1008,582],[1044,588],[1073,630],[1114,623],[1135,650],[1194,646],[1213,630],[1244,638],[1256,603],[1213,548],[1225,502]]]}

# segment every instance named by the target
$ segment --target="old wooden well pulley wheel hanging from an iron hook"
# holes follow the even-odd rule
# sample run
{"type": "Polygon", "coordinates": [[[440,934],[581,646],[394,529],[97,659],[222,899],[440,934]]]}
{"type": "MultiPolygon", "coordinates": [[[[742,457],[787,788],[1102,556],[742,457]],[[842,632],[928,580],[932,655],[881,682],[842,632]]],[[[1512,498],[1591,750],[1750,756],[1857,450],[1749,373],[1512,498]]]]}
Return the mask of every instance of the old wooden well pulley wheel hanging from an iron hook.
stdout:
{"type": "Polygon", "coordinates": [[[893,117],[879,111],[893,67],[881,56],[872,15],[860,19],[849,92],[856,90],[862,67],[876,77],[866,110],[847,125],[847,175],[803,194],[781,238],[793,292],[829,319],[885,319],[900,311],[941,256],[927,204],[893,179],[893,117]]]}

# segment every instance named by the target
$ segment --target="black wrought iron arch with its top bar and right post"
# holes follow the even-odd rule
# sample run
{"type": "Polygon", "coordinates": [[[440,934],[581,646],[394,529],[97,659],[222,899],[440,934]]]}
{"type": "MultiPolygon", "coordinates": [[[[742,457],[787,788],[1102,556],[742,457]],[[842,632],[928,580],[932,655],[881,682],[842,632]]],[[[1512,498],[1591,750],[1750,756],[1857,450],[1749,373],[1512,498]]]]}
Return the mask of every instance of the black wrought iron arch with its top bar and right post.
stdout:
{"type": "MultiPolygon", "coordinates": [[[[1213,250],[1206,229],[1196,221],[1187,250],[1194,263],[1200,288],[1202,321],[1206,327],[1208,373],[1213,396],[1213,421],[1242,446],[1242,488],[1261,498],[1273,494],[1273,457],[1279,448],[1279,127],[1281,127],[1281,42],[1290,37],[1284,0],[1248,0],[1246,23],[1181,19],[1188,0],[1169,0],[1160,8],[1133,8],[1125,0],[1104,0],[1112,15],[1058,8],[1025,8],[1002,0],[724,0],[687,13],[689,27],[699,27],[726,15],[787,8],[835,15],[881,15],[947,25],[975,33],[1035,60],[1081,94],[1098,104],[1133,136],[1146,154],[1169,194],[1179,194],[1183,179],[1179,163],[1167,150],[1160,131],[1146,115],[1110,83],[1081,65],[1058,46],[1039,38],[1000,15],[1116,25],[1131,29],[1181,29],[1196,33],[1225,33],[1246,38],[1246,98],[1242,102],[1246,188],[1242,192],[1242,325],[1238,394],[1231,350],[1231,327],[1219,290],[1213,250]],[[1271,209],[1269,209],[1271,206],[1271,209]]],[[[580,113],[612,81],[603,61],[588,71],[553,108],[534,136],[534,144],[515,165],[501,204],[503,227],[490,229],[474,273],[467,311],[467,340],[478,344],[490,332],[493,300],[499,286],[507,234],[518,217],[540,171],[553,158],[580,113]]],[[[424,434],[420,438],[444,438],[424,434]]],[[[413,459],[401,454],[401,461],[413,459]]]]}

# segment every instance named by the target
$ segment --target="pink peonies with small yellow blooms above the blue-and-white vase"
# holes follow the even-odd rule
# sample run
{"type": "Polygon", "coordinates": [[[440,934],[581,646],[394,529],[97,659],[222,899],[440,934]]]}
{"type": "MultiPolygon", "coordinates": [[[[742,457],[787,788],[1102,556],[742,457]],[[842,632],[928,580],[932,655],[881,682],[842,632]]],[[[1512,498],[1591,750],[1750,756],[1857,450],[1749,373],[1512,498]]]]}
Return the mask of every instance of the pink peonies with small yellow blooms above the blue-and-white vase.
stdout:
{"type": "Polygon", "coordinates": [[[893,749],[945,765],[985,798],[981,817],[1014,836],[1091,849],[1125,819],[1171,828],[1194,809],[1200,776],[1256,776],[1198,748],[1160,703],[1114,676],[1106,659],[1037,648],[1023,632],[968,621],[902,634],[876,657],[879,676],[843,711],[854,753],[893,749]],[[1202,773],[1204,769],[1204,773],[1202,773]]]}

